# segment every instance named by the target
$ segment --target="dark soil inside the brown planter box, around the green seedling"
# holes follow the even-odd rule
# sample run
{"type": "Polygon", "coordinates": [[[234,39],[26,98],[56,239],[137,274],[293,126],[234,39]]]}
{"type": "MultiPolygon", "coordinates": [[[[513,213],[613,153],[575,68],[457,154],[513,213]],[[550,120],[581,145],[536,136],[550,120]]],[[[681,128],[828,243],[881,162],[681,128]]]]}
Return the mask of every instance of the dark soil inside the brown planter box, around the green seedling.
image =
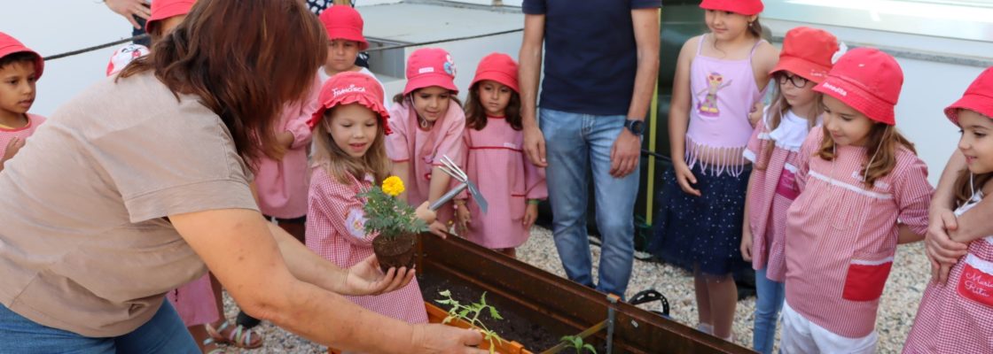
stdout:
{"type": "MultiPolygon", "coordinates": [[[[424,300],[445,310],[448,310],[450,306],[435,302],[436,299],[442,298],[438,293],[446,290],[450,291],[452,292],[452,297],[462,303],[479,302],[480,296],[483,295],[483,292],[478,289],[470,288],[458,281],[443,279],[434,274],[421,274],[418,276],[417,281],[420,283],[421,294],[424,295],[424,300]]],[[[570,334],[550,333],[544,327],[533,324],[527,318],[508,310],[506,306],[500,306],[501,303],[506,302],[506,300],[497,297],[497,295],[487,293],[487,303],[495,305],[503,319],[494,319],[490,317],[490,313],[487,313],[487,311],[484,311],[484,314],[481,315],[481,317],[484,317],[481,318],[483,322],[491,330],[497,332],[501,338],[516,341],[523,344],[525,349],[538,353],[558,344],[559,338],[563,335],[570,334]]],[[[569,351],[564,350],[562,353],[569,353],[569,351]]]]}

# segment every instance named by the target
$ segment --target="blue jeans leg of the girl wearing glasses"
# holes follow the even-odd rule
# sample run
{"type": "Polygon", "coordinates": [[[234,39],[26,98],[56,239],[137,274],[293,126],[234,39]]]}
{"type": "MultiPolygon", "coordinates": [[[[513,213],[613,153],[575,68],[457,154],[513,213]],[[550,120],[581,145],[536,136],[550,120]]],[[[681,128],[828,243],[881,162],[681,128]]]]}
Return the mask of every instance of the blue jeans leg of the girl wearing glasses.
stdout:
{"type": "Polygon", "coordinates": [[[755,351],[770,354],[776,342],[776,323],[780,317],[782,301],[786,298],[783,283],[766,278],[766,269],[755,272],[755,331],[752,344],[755,351]]]}

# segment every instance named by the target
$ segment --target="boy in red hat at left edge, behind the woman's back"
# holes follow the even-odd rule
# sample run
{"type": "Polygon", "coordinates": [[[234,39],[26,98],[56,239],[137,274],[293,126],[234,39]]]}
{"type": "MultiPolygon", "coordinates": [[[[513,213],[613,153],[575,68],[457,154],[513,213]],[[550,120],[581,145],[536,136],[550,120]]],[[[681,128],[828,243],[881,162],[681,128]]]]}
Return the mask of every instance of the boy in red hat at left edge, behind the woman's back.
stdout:
{"type": "Polygon", "coordinates": [[[45,122],[45,117],[28,113],[44,70],[42,56],[0,32],[0,172],[45,122]]]}

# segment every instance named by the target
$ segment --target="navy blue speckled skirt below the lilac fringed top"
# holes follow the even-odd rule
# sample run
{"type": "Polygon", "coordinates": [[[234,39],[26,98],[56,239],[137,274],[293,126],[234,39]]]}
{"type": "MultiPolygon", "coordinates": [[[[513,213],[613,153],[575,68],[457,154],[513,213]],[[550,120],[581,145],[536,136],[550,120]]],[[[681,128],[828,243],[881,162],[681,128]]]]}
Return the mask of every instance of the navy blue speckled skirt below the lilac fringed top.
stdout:
{"type": "Polygon", "coordinates": [[[663,262],[687,271],[699,269],[723,276],[751,267],[741,255],[745,194],[752,168],[740,176],[727,173],[704,175],[693,169],[702,196],[687,194],[679,187],[672,169],[663,174],[664,186],[655,215],[648,251],[663,262]]]}

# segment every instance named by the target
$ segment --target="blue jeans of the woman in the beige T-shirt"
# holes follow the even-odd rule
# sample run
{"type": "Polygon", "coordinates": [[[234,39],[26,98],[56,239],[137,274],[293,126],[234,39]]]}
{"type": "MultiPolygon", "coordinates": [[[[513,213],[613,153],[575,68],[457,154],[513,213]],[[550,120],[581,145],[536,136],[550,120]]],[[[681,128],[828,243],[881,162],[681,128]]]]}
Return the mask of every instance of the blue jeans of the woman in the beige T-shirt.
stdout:
{"type": "Polygon", "coordinates": [[[169,301],[137,329],[118,337],[90,338],[47,327],[0,305],[0,353],[188,353],[200,348],[169,301]]]}

